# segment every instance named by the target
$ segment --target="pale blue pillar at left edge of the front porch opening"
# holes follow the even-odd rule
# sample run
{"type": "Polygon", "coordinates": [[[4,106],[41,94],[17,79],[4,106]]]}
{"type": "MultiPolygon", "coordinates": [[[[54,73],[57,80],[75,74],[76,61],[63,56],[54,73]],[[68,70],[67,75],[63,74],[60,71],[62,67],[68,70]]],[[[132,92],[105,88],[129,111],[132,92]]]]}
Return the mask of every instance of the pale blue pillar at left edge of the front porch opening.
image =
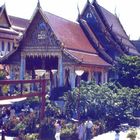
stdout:
{"type": "Polygon", "coordinates": [[[24,79],[25,76],[25,65],[26,65],[26,60],[25,56],[21,56],[21,62],[20,62],[20,80],[24,79]]]}

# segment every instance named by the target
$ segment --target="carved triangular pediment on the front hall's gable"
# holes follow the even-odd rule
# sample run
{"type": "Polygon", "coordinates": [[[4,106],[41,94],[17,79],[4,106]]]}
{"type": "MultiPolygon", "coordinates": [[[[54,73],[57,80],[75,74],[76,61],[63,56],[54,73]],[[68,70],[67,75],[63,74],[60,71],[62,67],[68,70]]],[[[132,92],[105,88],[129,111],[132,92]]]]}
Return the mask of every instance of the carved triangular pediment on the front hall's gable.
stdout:
{"type": "Polygon", "coordinates": [[[43,19],[40,12],[37,12],[30,26],[28,27],[23,40],[22,49],[36,49],[41,46],[46,48],[56,48],[59,46],[50,25],[43,19]]]}

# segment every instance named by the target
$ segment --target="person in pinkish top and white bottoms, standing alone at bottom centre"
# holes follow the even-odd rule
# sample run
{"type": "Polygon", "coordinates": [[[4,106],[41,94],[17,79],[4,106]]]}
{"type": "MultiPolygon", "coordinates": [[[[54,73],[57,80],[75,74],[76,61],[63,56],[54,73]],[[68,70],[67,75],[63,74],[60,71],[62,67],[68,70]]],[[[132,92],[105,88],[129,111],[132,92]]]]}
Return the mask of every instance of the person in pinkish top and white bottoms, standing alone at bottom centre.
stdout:
{"type": "Polygon", "coordinates": [[[61,134],[61,121],[58,120],[54,124],[55,126],[55,140],[60,140],[60,134],[61,134]]]}

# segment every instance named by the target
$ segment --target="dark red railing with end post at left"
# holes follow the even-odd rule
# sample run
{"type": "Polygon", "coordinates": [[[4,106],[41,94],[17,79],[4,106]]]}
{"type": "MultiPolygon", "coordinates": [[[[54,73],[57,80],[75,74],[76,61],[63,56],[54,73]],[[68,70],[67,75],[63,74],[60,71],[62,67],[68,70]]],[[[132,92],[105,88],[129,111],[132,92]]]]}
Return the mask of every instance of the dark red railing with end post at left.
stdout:
{"type": "Polygon", "coordinates": [[[0,80],[0,101],[23,97],[41,97],[40,118],[45,116],[46,80],[0,80]]]}

